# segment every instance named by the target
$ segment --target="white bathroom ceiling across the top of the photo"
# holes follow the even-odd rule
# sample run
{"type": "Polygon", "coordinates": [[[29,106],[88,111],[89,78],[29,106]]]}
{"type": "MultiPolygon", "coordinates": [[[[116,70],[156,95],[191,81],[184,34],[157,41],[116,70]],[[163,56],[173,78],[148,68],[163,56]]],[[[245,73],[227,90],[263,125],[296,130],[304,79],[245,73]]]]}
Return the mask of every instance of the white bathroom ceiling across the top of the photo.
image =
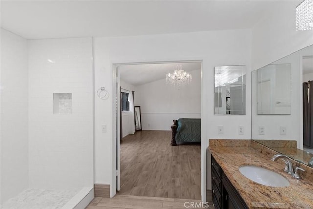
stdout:
{"type": "Polygon", "coordinates": [[[0,26],[26,39],[245,29],[279,3],[284,0],[0,0],[0,26]]]}

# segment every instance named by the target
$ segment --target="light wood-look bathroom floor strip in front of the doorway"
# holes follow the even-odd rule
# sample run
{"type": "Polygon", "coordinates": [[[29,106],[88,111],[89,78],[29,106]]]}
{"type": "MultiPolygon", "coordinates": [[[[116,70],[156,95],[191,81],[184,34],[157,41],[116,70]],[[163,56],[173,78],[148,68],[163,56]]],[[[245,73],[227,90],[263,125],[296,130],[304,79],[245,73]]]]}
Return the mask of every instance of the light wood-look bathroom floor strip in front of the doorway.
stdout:
{"type": "Polygon", "coordinates": [[[200,207],[190,207],[190,202],[199,204],[201,203],[201,200],[115,195],[113,198],[96,197],[91,201],[86,209],[213,209],[212,201],[207,202],[208,205],[197,205],[200,207]],[[185,204],[185,202],[188,203],[185,204]]]}

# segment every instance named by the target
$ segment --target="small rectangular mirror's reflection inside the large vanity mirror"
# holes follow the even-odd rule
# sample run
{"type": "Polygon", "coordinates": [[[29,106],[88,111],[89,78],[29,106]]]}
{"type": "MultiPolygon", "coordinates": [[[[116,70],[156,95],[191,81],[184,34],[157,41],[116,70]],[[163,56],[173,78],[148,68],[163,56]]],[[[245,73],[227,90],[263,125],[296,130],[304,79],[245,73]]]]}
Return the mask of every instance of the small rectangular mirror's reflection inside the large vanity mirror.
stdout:
{"type": "Polygon", "coordinates": [[[257,113],[291,114],[291,64],[257,70],[257,113]]]}

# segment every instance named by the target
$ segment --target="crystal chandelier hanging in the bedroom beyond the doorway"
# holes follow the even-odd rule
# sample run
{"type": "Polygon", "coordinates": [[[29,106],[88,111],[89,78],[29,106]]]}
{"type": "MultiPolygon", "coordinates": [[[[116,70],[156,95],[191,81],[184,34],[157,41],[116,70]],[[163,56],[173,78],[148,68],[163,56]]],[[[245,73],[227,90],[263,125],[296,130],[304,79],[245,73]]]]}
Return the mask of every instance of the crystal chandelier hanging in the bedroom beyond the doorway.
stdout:
{"type": "Polygon", "coordinates": [[[166,74],[166,83],[172,84],[176,86],[183,86],[186,84],[190,84],[191,82],[191,75],[182,70],[181,64],[176,66],[176,70],[174,72],[166,74]]]}

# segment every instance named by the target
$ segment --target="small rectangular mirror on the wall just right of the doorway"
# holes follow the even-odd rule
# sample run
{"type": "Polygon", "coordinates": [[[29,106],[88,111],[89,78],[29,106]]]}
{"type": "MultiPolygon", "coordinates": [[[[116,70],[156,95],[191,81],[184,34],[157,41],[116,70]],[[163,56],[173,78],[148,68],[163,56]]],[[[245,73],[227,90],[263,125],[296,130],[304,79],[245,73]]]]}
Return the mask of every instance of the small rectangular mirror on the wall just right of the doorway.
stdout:
{"type": "Polygon", "coordinates": [[[246,66],[215,66],[214,113],[246,115],[246,66]]]}

